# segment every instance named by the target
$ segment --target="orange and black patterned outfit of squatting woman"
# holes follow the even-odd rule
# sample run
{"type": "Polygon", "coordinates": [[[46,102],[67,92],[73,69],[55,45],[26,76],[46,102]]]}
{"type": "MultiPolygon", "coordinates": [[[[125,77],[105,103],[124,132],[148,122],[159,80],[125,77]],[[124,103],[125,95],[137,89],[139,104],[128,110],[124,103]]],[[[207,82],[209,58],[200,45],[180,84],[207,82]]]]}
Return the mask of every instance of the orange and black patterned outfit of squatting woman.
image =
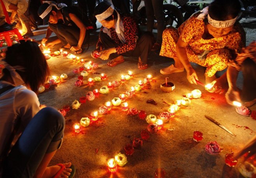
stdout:
{"type": "Polygon", "coordinates": [[[205,74],[212,77],[217,71],[228,67],[228,62],[232,58],[231,51],[240,53],[244,46],[245,33],[236,22],[230,33],[219,38],[203,39],[205,23],[196,18],[199,14],[191,16],[178,29],[174,27],[165,29],[160,56],[177,58],[176,43],[181,38],[188,43],[186,51],[189,62],[207,67],[205,74]]]}

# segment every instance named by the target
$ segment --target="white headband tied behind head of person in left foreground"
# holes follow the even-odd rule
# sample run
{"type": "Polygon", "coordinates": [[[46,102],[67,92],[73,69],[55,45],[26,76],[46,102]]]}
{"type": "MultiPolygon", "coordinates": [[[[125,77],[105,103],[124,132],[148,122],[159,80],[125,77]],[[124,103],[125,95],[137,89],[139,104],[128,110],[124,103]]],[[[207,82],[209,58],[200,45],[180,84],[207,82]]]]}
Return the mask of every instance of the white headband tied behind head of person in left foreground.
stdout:
{"type": "Polygon", "coordinates": [[[9,63],[5,62],[5,60],[0,60],[0,65],[4,65],[4,67],[9,70],[15,86],[23,85],[25,83],[18,72],[16,72],[16,70],[24,72],[25,68],[23,66],[11,66],[9,63]]]}

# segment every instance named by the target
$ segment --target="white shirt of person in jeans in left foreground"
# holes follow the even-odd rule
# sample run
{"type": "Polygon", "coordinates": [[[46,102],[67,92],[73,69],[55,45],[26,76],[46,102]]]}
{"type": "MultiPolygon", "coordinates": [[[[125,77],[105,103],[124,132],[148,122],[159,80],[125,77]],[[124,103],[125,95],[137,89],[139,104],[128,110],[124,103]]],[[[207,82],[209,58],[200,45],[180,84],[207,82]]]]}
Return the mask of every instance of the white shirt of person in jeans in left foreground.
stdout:
{"type": "MultiPolygon", "coordinates": [[[[0,81],[0,89],[11,85],[8,82],[0,81]]],[[[0,94],[0,154],[8,142],[14,129],[17,119],[21,120],[16,137],[12,145],[18,140],[26,125],[40,110],[39,99],[35,92],[25,86],[16,86],[0,94]]]]}

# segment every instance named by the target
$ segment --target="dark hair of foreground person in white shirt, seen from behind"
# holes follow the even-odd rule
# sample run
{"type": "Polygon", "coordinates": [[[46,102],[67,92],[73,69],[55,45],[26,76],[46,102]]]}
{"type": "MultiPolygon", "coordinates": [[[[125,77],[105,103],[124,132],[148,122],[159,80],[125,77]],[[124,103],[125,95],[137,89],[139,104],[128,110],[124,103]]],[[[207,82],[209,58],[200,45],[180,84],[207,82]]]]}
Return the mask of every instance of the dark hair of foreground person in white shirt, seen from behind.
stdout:
{"type": "Polygon", "coordinates": [[[19,65],[25,68],[24,72],[16,71],[34,92],[49,79],[49,67],[36,42],[21,40],[20,44],[8,47],[5,61],[11,66],[19,65]]]}

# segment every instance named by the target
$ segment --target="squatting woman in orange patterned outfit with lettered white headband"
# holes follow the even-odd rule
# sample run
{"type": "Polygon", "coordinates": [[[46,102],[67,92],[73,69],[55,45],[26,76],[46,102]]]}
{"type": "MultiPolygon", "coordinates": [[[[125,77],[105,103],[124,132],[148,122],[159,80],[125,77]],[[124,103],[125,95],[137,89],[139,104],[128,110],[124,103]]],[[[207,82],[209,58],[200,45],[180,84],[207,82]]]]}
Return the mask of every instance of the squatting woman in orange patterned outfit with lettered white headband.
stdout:
{"type": "Polygon", "coordinates": [[[245,45],[245,33],[236,19],[240,11],[238,0],[214,0],[209,7],[196,12],[178,29],[163,33],[161,56],[175,63],[162,68],[161,74],[187,71],[187,79],[196,84],[198,77],[189,62],[206,67],[205,82],[210,83],[217,71],[224,70],[245,45]]]}

